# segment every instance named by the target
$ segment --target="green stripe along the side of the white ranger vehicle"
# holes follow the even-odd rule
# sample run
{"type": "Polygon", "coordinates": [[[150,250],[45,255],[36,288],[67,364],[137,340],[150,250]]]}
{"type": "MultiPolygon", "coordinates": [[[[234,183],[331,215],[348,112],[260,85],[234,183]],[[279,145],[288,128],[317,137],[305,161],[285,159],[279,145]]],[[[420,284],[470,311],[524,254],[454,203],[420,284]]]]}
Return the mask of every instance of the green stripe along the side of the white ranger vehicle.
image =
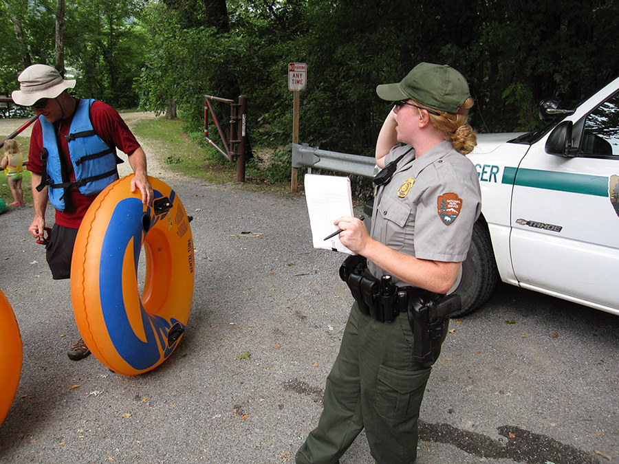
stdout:
{"type": "Polygon", "coordinates": [[[503,184],[544,188],[560,192],[608,197],[608,177],[587,174],[555,173],[550,170],[503,169],[503,184]]]}

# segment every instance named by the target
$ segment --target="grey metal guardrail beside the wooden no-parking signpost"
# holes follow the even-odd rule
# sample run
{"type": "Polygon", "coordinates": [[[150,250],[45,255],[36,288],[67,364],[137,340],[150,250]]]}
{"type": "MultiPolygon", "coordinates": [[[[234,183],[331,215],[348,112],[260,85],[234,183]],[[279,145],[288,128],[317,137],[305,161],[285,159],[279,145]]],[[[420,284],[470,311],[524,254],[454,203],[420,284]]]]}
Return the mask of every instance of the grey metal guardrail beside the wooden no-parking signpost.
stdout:
{"type": "Polygon", "coordinates": [[[320,150],[307,144],[292,144],[292,167],[306,167],[310,173],[312,168],[318,168],[374,177],[375,166],[374,157],[320,150]]]}

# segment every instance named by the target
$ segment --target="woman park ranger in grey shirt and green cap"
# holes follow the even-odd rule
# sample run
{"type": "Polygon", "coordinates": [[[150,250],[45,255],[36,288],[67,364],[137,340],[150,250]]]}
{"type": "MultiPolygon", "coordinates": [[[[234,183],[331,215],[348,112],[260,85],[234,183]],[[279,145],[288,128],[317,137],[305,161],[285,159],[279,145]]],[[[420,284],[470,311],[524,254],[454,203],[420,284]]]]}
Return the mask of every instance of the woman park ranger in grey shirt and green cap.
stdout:
{"type": "Polygon", "coordinates": [[[340,269],[356,301],[323,414],[297,463],[338,462],[364,428],[378,463],[415,462],[419,410],[454,302],[445,295],[457,284],[481,208],[477,172],[464,156],[476,144],[464,76],[420,63],[376,91],[394,104],[376,142],[383,170],[371,230],[353,217],[335,222],[340,241],[360,256],[340,269]]]}

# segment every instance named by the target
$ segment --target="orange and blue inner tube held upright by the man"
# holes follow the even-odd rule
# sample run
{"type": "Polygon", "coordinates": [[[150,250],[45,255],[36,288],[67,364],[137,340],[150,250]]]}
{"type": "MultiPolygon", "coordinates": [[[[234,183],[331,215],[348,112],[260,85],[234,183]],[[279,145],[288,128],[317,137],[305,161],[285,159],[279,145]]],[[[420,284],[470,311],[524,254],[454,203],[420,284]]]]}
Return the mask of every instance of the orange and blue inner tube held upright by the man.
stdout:
{"type": "Polygon", "coordinates": [[[193,237],[180,198],[149,177],[155,199],[144,206],[139,190],[130,191],[132,178],[118,179],[91,204],[71,265],[80,334],[102,364],[122,375],[150,371],[171,355],[189,318],[194,285],[193,237]]]}

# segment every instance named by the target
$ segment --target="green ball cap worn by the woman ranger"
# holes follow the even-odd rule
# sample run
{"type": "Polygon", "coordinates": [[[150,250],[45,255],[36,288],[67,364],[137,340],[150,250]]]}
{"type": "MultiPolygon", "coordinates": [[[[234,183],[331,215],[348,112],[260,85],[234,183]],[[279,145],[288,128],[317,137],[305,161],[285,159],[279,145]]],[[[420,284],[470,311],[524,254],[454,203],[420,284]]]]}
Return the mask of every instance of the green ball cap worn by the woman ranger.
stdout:
{"type": "Polygon", "coordinates": [[[412,98],[428,108],[452,114],[457,114],[470,97],[464,76],[453,67],[433,63],[419,63],[401,82],[379,85],[376,93],[383,100],[412,98]]]}

